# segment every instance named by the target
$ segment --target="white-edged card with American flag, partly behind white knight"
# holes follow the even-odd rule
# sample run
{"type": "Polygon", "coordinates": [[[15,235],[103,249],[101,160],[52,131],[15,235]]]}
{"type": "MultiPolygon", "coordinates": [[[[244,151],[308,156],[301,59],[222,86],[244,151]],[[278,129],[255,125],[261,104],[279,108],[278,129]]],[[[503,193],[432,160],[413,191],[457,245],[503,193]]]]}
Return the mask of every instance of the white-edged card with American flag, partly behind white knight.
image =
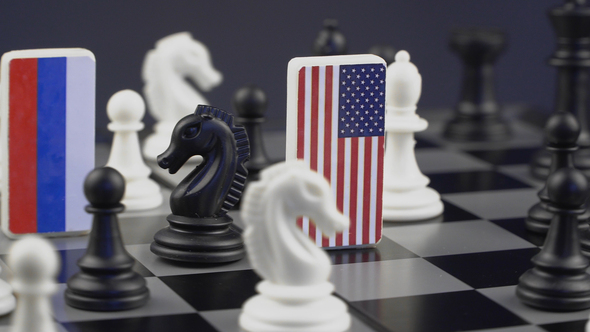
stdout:
{"type": "Polygon", "coordinates": [[[287,73],[287,159],[329,182],[350,227],[331,238],[300,218],[324,248],[372,246],[383,227],[386,64],[375,55],[294,58],[287,73]]]}

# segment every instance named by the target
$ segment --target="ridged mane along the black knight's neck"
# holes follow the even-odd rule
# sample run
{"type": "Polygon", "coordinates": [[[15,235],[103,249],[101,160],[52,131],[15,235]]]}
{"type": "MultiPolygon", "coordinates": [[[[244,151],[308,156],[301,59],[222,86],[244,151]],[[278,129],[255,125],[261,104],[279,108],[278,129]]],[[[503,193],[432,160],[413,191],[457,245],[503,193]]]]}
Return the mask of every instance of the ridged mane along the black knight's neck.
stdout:
{"type": "Polygon", "coordinates": [[[250,159],[250,143],[248,142],[248,135],[246,134],[246,130],[243,126],[234,124],[234,118],[231,114],[212,106],[197,106],[197,109],[195,110],[195,115],[203,114],[211,115],[212,117],[225,122],[231,129],[232,133],[234,134],[234,139],[236,140],[238,165],[236,167],[236,174],[234,175],[231,187],[227,195],[225,196],[225,199],[221,206],[221,210],[225,214],[234,205],[238,203],[240,197],[242,197],[242,193],[244,192],[244,187],[246,186],[246,178],[248,177],[248,169],[246,169],[244,163],[250,159]]]}

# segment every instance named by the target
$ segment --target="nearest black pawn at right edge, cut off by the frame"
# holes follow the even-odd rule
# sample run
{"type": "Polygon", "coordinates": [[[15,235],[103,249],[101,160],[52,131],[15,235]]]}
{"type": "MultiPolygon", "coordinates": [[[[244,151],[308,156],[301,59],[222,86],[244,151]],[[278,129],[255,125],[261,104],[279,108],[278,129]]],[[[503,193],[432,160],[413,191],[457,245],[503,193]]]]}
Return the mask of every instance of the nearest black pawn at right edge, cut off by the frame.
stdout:
{"type": "Polygon", "coordinates": [[[520,300],[549,311],[590,308],[588,260],[580,251],[578,218],[585,210],[586,176],[575,168],[557,170],[547,180],[549,211],[555,213],[545,244],[516,287],[520,300]]]}

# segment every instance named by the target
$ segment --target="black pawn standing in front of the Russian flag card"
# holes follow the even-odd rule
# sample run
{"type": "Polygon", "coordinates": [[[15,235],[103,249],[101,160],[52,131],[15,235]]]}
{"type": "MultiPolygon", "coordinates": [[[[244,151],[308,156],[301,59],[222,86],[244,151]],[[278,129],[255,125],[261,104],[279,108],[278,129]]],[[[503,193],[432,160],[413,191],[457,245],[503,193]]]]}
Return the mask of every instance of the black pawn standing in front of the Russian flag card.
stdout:
{"type": "Polygon", "coordinates": [[[135,260],[125,247],[117,213],[125,180],[115,169],[97,168],[84,181],[84,194],[94,215],[86,253],[78,261],[80,272],[72,276],[65,291],[66,303],[91,311],[119,311],[140,307],[149,299],[145,279],[133,271],[135,260]]]}

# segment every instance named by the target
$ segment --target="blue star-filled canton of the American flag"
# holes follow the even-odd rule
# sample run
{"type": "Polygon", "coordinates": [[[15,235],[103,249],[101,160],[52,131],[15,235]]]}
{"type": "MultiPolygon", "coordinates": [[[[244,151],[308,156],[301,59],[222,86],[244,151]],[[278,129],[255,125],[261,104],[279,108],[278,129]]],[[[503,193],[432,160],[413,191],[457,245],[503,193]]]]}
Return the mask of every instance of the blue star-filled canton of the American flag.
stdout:
{"type": "Polygon", "coordinates": [[[338,137],[383,136],[385,66],[340,66],[338,137]]]}

